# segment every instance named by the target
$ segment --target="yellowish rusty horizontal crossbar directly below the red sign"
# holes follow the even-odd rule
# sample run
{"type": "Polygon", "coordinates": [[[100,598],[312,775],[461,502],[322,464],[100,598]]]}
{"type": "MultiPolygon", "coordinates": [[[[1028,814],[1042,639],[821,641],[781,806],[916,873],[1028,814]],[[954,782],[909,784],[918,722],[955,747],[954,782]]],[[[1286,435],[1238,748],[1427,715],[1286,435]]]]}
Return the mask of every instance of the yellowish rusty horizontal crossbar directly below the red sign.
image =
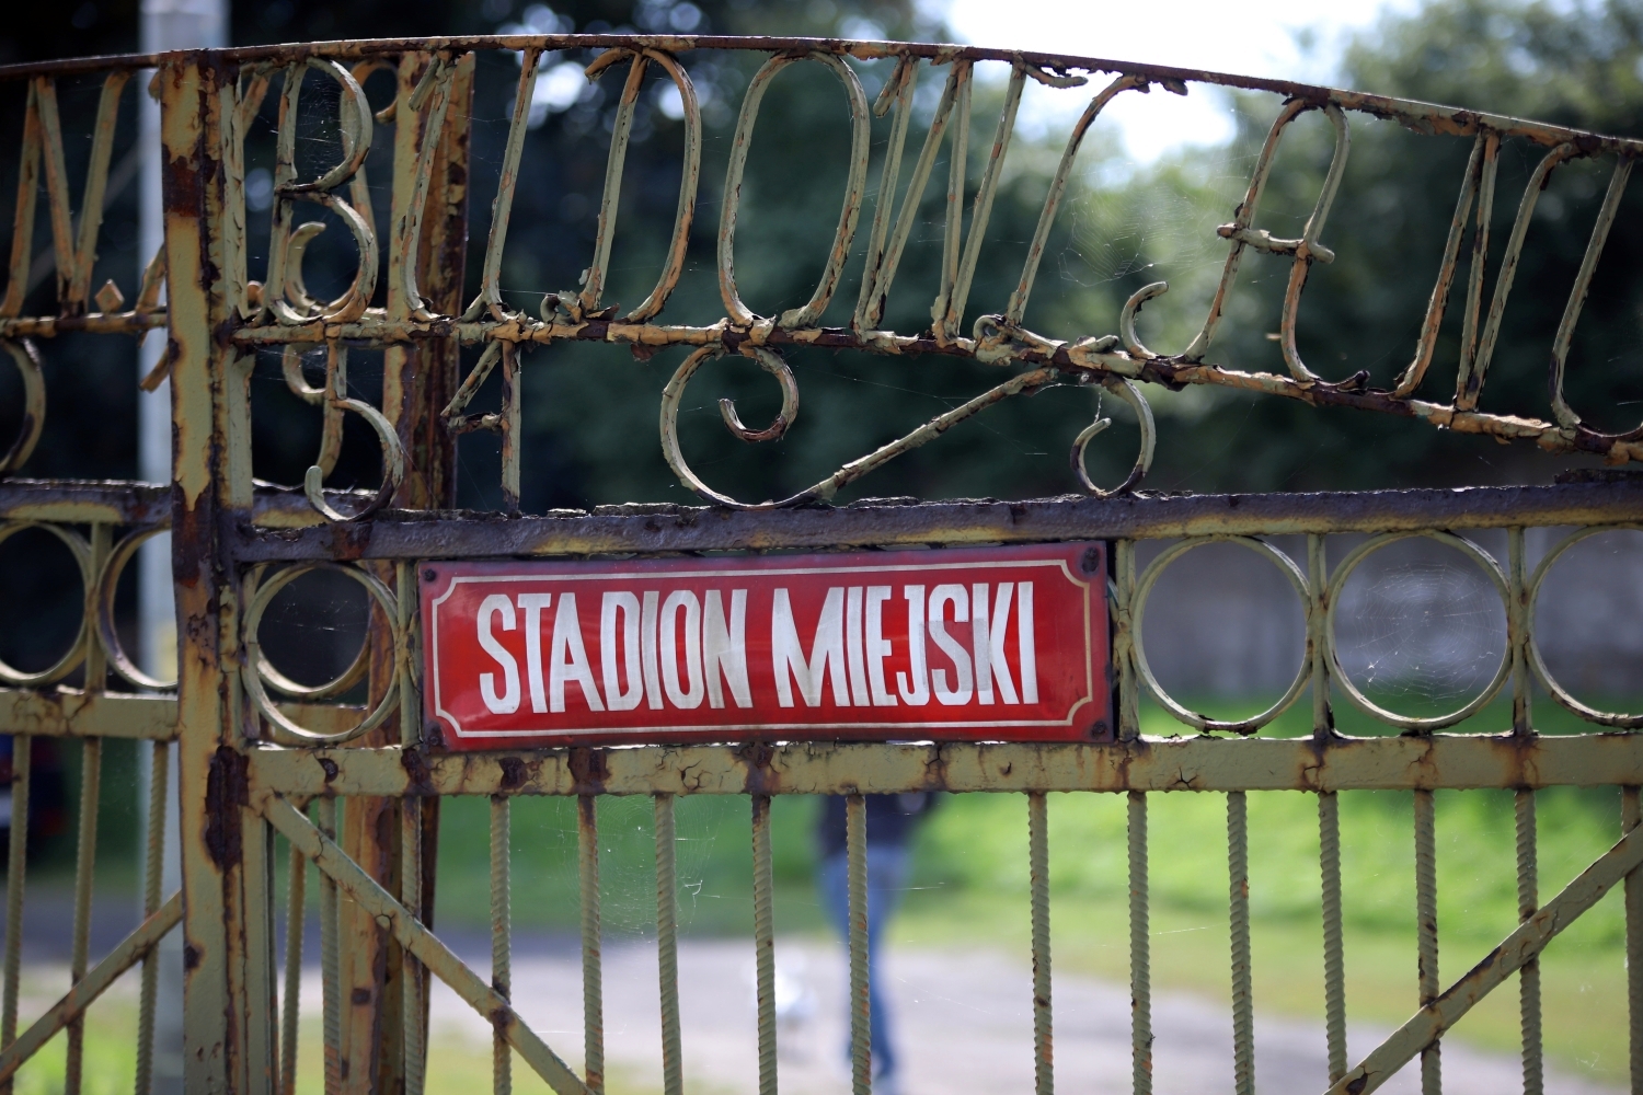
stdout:
{"type": "Polygon", "coordinates": [[[1144,737],[1114,744],[749,744],[426,755],[253,749],[251,786],[309,795],[1346,791],[1643,783],[1643,734],[1144,737]]]}

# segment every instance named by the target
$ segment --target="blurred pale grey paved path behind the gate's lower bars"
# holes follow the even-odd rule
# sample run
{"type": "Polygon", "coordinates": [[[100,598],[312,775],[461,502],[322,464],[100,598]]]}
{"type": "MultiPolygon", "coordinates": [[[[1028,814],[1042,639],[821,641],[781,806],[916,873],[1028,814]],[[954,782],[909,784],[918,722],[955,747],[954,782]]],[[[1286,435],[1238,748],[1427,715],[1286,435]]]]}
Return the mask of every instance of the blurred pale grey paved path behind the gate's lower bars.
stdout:
{"type": "MultiPolygon", "coordinates": [[[[475,970],[488,969],[480,941],[455,941],[475,970]]],[[[524,942],[524,941],[522,941],[524,942]]],[[[779,996],[795,1001],[779,1044],[784,1095],[848,1095],[843,1064],[843,954],[810,939],[777,942],[779,996]]],[[[894,1018],[904,1057],[900,1095],[1032,1092],[1032,1013],[1022,962],[989,951],[899,949],[887,955],[894,1018]]],[[[757,1092],[752,947],[739,941],[685,941],[679,949],[687,1085],[726,1095],[757,1092]]],[[[514,1000],[555,1051],[580,1064],[580,959],[565,942],[524,942],[514,957],[514,1000]]],[[[654,944],[614,944],[605,952],[606,1061],[613,1090],[660,1088],[654,944]]],[[[304,1006],[319,1006],[317,983],[304,1006]]],[[[490,1038],[490,1026],[449,990],[434,996],[434,1024],[445,1036],[490,1038]]],[[[1155,1090],[1231,1092],[1232,1038],[1224,1008],[1198,996],[1153,998],[1155,1090]]],[[[1383,1031],[1349,1031],[1352,1052],[1383,1031]]],[[[1326,1084],[1321,1023],[1257,1019],[1255,1070],[1262,1095],[1318,1095],[1326,1084]]],[[[1355,1057],[1354,1057],[1355,1061],[1355,1057]]],[[[1444,1047],[1444,1090],[1495,1095],[1521,1090],[1518,1061],[1466,1046],[1444,1047]]],[[[1055,978],[1055,1074],[1063,1092],[1129,1092],[1129,993],[1088,978],[1055,978]]],[[[1420,1090],[1418,1067],[1380,1090],[1420,1090]]],[[[1549,1095],[1608,1095],[1608,1088],[1553,1072],[1549,1095]]]]}

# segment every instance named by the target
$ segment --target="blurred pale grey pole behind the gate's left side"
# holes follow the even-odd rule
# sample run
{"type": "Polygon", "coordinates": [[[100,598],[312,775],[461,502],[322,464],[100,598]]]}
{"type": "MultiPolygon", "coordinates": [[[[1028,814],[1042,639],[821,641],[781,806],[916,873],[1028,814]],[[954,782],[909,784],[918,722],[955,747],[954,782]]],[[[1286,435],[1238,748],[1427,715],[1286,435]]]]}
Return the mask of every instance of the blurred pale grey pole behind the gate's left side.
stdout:
{"type": "MultiPolygon", "coordinates": [[[[220,48],[228,44],[228,0],[143,0],[141,49],[220,48]]],[[[138,212],[138,261],[148,263],[164,243],[164,208],[159,197],[159,103],[145,87],[138,92],[143,148],[138,212]]],[[[136,376],[153,371],[164,350],[164,332],[150,332],[138,346],[136,376]]],[[[171,483],[171,384],[153,392],[136,392],[136,465],[145,483],[171,483]]],[[[138,648],[143,668],[169,676],[177,660],[177,616],[171,583],[171,534],[161,534],[140,550],[138,565],[138,648]]],[[[166,850],[161,893],[182,887],[182,855],[177,841],[177,752],[173,749],[171,788],[166,803],[166,850]]],[[[148,788],[148,780],[138,780],[148,788]]],[[[141,811],[143,818],[148,811],[141,811]]],[[[145,847],[146,841],[138,847],[145,847]]],[[[148,1095],[148,1093],[138,1093],[148,1095]]],[[[154,1008],[153,1095],[182,1095],[182,932],[173,931],[159,944],[159,993],[154,1008]]]]}

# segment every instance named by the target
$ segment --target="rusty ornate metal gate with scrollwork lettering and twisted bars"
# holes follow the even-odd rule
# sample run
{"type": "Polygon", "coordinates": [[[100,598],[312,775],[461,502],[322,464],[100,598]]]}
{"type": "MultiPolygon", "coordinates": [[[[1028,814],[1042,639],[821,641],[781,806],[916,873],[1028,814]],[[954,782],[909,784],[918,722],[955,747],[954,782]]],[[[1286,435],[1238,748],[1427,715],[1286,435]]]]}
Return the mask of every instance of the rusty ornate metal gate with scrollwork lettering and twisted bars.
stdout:
{"type": "MultiPolygon", "coordinates": [[[[598,1095],[603,1077],[600,969],[600,845],[596,803],[608,795],[652,796],[656,808],[657,960],[660,964],[662,1061],[665,1095],[683,1090],[679,1019],[677,914],[674,888],[674,806],[685,795],[748,796],[752,811],[754,954],[757,955],[759,1090],[775,1092],[774,941],[771,873],[771,799],[779,795],[849,795],[849,970],[853,1000],[853,1084],[871,1090],[866,995],[866,865],[863,795],[884,791],[991,791],[1020,795],[1030,834],[1032,980],[1020,992],[1033,1008],[1037,1090],[1053,1090],[1050,896],[1047,885],[1047,795],[1052,791],[1125,795],[1129,803],[1129,957],[1132,992],[1134,1090],[1152,1090],[1152,1010],[1148,982],[1148,799],[1158,791],[1226,796],[1229,834],[1229,916],[1234,1028],[1234,1084],[1254,1090],[1254,1018],[1250,1000],[1249,878],[1245,796],[1290,790],[1316,796],[1321,834],[1319,908],[1331,1092],[1369,1092],[1420,1057],[1424,1090],[1439,1090],[1443,1034],[1485,993],[1518,975],[1523,1016],[1523,1084],[1541,1085],[1541,949],[1617,885],[1625,885],[1630,985],[1631,1090],[1643,1092],[1643,836],[1638,785],[1643,785],[1643,714],[1590,709],[1548,671],[1535,640],[1536,596],[1548,568],[1574,543],[1600,530],[1638,529],[1643,486],[1623,476],[1544,488],[1466,491],[1388,491],[1286,496],[1145,496],[1135,488],[1153,451],[1152,415],[1137,381],[1181,387],[1227,386],[1318,407],[1351,407],[1413,417],[1433,428],[1479,433],[1553,453],[1599,453],[1623,465],[1643,458],[1638,433],[1605,435],[1589,428],[1562,397],[1562,376],[1581,305],[1602,253],[1633,158],[1643,144],[1569,131],[1505,117],[1211,72],[1094,62],[1078,57],[1002,53],[955,46],[848,43],[815,39],[736,39],[665,36],[536,36],[422,41],[320,43],[225,49],[158,57],[72,61],[0,71],[26,82],[21,184],[7,294],[0,300],[0,346],[23,376],[26,415],[3,471],[26,460],[43,425],[49,428],[41,355],[72,332],[131,337],[163,328],[166,350],[145,381],[169,378],[173,389],[174,478],[171,489],[136,483],[0,481],[5,525],[0,537],[38,527],[72,550],[85,584],[84,624],[69,653],[39,673],[0,665],[0,727],[15,735],[13,824],[7,875],[0,1085],[10,1090],[20,1065],[49,1039],[67,1038],[64,1090],[81,1088],[85,1008],[117,977],[143,965],[138,1031],[140,1093],[150,1087],[156,1000],[156,944],[181,926],[186,964],[186,1079],[191,1092],[289,1093],[296,1084],[297,987],[302,954],[304,878],[317,867],[324,939],[324,1074],[327,1092],[406,1092],[424,1088],[427,993],[430,978],[447,983],[495,1028],[495,1090],[508,1092],[518,1054],[560,1095],[598,1095]],[[626,72],[614,128],[600,230],[578,291],[549,294],[539,309],[516,310],[503,296],[501,271],[514,181],[529,128],[534,87],[544,56],[560,49],[603,51],[588,66],[626,72]],[[468,125],[475,56],[518,51],[521,71],[508,130],[501,184],[495,195],[468,195],[468,125]],[[692,51],[749,51],[762,67],[746,87],[729,159],[718,227],[718,286],[723,315],[692,317],[700,325],[660,320],[685,268],[697,213],[703,140],[697,94],[679,57],[692,51]],[[882,92],[869,102],[858,76],[861,62],[886,67],[882,92]],[[764,90],[794,64],[817,64],[841,84],[851,117],[851,153],[845,205],[825,271],[810,300],[764,317],[743,302],[734,264],[738,207],[764,90]],[[677,85],[685,123],[685,164],[677,222],[656,289],[628,314],[603,302],[641,77],[652,67],[677,85]],[[1007,71],[1002,113],[979,181],[966,177],[971,89],[978,66],[1007,71]],[[148,71],[153,69],[150,80],[148,71]],[[365,77],[388,69],[394,97],[373,103],[365,77]],[[312,76],[317,74],[317,76],[312,76]],[[90,133],[82,197],[69,177],[58,85],[102,80],[102,105],[90,133]],[[304,79],[335,84],[340,163],[319,177],[297,171],[297,107],[304,79]],[[933,120],[917,158],[904,159],[915,85],[940,84],[933,120]],[[1004,176],[1015,112],[1029,82],[1065,95],[1098,94],[1073,130],[1042,208],[1019,286],[1009,300],[963,330],[969,287],[981,259],[989,210],[1004,176]],[[1283,107],[1252,166],[1249,192],[1231,223],[1219,289],[1196,338],[1176,355],[1155,355],[1137,338],[1135,314],[1163,292],[1148,286],[1124,307],[1116,335],[1050,338],[1024,327],[1045,240],[1068,186],[1075,156],[1096,115],[1117,95],[1158,89],[1186,94],[1194,85],[1275,92],[1283,107]],[[1083,89],[1083,90],[1078,90],[1083,89]],[[166,241],[127,307],[112,284],[92,296],[100,210],[122,95],[153,94],[163,110],[166,241]],[[278,163],[273,177],[271,246],[263,271],[246,248],[243,141],[265,99],[278,95],[278,163]],[[1300,238],[1262,228],[1262,190],[1290,125],[1319,112],[1332,126],[1334,154],[1316,207],[1300,238]],[[1328,381],[1301,361],[1296,314],[1308,271],[1332,261],[1324,245],[1326,218],[1349,153],[1351,118],[1372,115],[1424,135],[1472,136],[1470,161],[1418,350],[1395,389],[1374,391],[1355,376],[1328,381]],[[373,126],[393,125],[388,238],[380,238],[363,163],[373,126]],[[881,126],[879,133],[874,126],[881,126]],[[879,133],[876,138],[874,135],[879,133]],[[869,161],[884,138],[877,202],[868,223],[869,161]],[[918,199],[943,146],[950,156],[941,284],[927,332],[881,330],[918,199]],[[1503,144],[1539,149],[1503,254],[1492,300],[1484,300],[1487,233],[1495,172],[1503,144]],[[1561,164],[1597,158],[1613,163],[1579,279],[1551,348],[1553,420],[1528,412],[1479,407],[1484,381],[1510,304],[1512,277],[1546,177],[1561,164]],[[46,190],[51,250],[58,269],[53,314],[26,315],[25,287],[35,254],[36,194],[46,190]],[[904,197],[897,204],[897,194],[904,197]],[[468,204],[491,204],[481,291],[462,299],[468,204]],[[353,235],[358,271],[335,300],[309,294],[304,248],[314,228],[299,223],[301,204],[334,213],[353,235]],[[969,207],[966,228],[964,210],[969,207]],[[899,212],[897,212],[899,210],[899,212]],[[1447,401],[1423,401],[1416,391],[1439,383],[1438,328],[1449,307],[1469,223],[1474,263],[1461,307],[1464,335],[1456,391],[1447,401]],[[861,228],[863,231],[858,231],[861,228]],[[853,245],[866,240],[859,299],[848,325],[820,318],[843,286],[853,245]],[[386,254],[383,253],[386,250],[386,254]],[[1290,263],[1277,341],[1288,374],[1239,371],[1209,360],[1217,323],[1249,251],[1290,263]],[[386,279],[378,284],[378,271],[386,279]],[[161,291],[164,289],[164,300],[161,291]],[[687,348],[662,396],[660,440],[680,481],[706,507],[603,507],[596,514],[521,515],[522,350],[554,341],[606,343],[616,351],[649,355],[687,348]],[[348,348],[384,353],[378,405],[350,394],[348,348]],[[460,351],[478,358],[462,373],[460,351]],[[748,428],[725,405],[728,428],[746,442],[782,435],[797,414],[797,383],[784,360],[795,346],[831,346],[877,355],[969,358],[999,368],[1001,383],[937,417],[907,437],[843,465],[800,494],[746,504],[710,488],[683,456],[677,417],[685,386],[706,361],[743,355],[782,389],[782,412],[764,428],[748,428]],[[324,348],[325,383],[311,386],[297,364],[291,387],[324,414],[325,443],[302,489],[276,489],[253,479],[250,447],[250,371],[258,350],[284,351],[288,363],[324,348]],[[499,412],[468,414],[467,404],[499,368],[499,412]],[[938,438],[964,419],[1019,394],[1058,384],[1099,384],[1135,409],[1142,428],[1134,471],[1116,489],[1101,489],[1084,471],[1083,453],[1104,422],[1073,442],[1073,473],[1083,497],[1027,502],[858,502],[826,506],[845,484],[895,456],[938,438]],[[325,478],[337,458],[345,415],[361,417],[381,445],[383,481],[375,491],[334,491],[325,478]],[[501,435],[501,514],[452,509],[453,438],[468,430],[501,435]],[[177,683],[146,676],[127,657],[113,624],[113,591],[138,547],[154,532],[173,535],[179,635],[177,683]],[[1525,529],[1576,530],[1528,565],[1525,529]],[[1484,529],[1507,530],[1508,552],[1495,558],[1467,538],[1484,529]],[[115,534],[120,534],[118,537],[115,534]],[[1326,558],[1326,537],[1369,534],[1339,560],[1326,558]],[[1305,560],[1272,543],[1303,537],[1305,560]],[[1408,537],[1428,537],[1466,553],[1498,593],[1508,650],[1492,683],[1470,703],[1441,717],[1408,717],[1375,706],[1347,680],[1334,645],[1331,593],[1372,552],[1408,537]],[[1099,538],[1116,545],[1111,573],[1111,629],[1117,685],[1117,726],[1111,740],[1088,744],[725,744],[621,749],[445,754],[422,745],[419,698],[419,622],[414,611],[417,561],[426,558],[590,557],[603,553],[757,552],[836,548],[841,545],[964,545],[1099,538]],[[1175,540],[1137,573],[1137,542],[1175,540]],[[1214,721],[1165,693],[1140,644],[1140,619],[1160,573],[1199,545],[1236,542],[1272,563],[1298,593],[1306,621],[1306,657],[1283,698],[1260,716],[1214,721]],[[263,657],[258,625],[273,596],[315,568],[360,583],[373,604],[370,642],[348,673],[319,688],[281,676],[263,657]],[[61,685],[81,670],[84,686],[61,685]],[[363,708],[338,703],[365,681],[363,708]],[[1587,732],[1539,735],[1531,711],[1533,686],[1584,719],[1587,732]],[[1148,696],[1196,731],[1144,737],[1140,703],[1148,696]],[[1311,704],[1313,734],[1262,735],[1285,709],[1311,704]],[[1512,698],[1512,724],[1493,732],[1444,734],[1497,696],[1512,698]],[[1346,701],[1398,731],[1346,737],[1331,704],[1346,701]],[[44,1015],[18,1031],[21,918],[30,795],[31,735],[74,739],[84,750],[77,887],[74,896],[72,985],[44,1015]],[[92,857],[95,855],[97,772],[108,739],[141,739],[156,755],[151,772],[150,844],[143,873],[146,919],[99,962],[89,955],[92,857]],[[179,750],[181,788],[166,786],[168,750],[179,750]],[[1536,791],[1546,786],[1623,788],[1618,842],[1556,895],[1536,888],[1536,791]],[[1337,795],[1360,788],[1415,793],[1418,1001],[1413,1016],[1380,1046],[1347,1057],[1346,982],[1342,975],[1341,857],[1337,795]],[[1438,974],[1434,791],[1508,788],[1516,791],[1516,864],[1520,926],[1477,967],[1444,982],[1438,974]],[[184,882],[161,893],[163,804],[181,795],[184,882]],[[442,796],[485,796],[491,818],[493,962],[468,969],[427,928],[432,909],[430,841],[442,796]],[[585,1070],[578,1075],[509,1006],[509,803],[521,795],[577,796],[580,801],[582,957],[585,972],[585,1070]],[[288,864],[273,862],[274,834],[289,841],[288,864]],[[276,969],[276,875],[289,872],[289,944],[284,974],[276,969]],[[281,983],[283,980],[283,983],[281,983]]],[[[769,123],[769,121],[767,121],[769,123]]],[[[470,358],[472,360],[472,358],[470,358]]],[[[1447,381],[1443,381],[1447,383],[1447,381]]],[[[1411,980],[1415,980],[1411,977],[1411,980]]],[[[1413,993],[1411,993],[1413,996],[1413,993]]],[[[1076,1079],[1075,1079],[1076,1082],[1076,1079]]]]}

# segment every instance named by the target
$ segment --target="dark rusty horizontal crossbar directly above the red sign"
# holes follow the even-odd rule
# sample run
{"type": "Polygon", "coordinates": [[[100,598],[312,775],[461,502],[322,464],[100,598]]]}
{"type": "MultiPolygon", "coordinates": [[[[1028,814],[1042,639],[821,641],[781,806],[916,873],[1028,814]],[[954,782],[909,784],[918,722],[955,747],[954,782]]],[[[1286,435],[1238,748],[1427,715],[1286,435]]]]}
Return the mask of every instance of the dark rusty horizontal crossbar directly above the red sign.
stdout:
{"type": "Polygon", "coordinates": [[[866,499],[748,512],[702,506],[601,506],[541,517],[386,512],[302,530],[242,529],[245,563],[480,558],[618,552],[1032,543],[1201,535],[1293,535],[1607,525],[1643,520],[1643,478],[1316,494],[1132,494],[1025,502],[866,499]]]}

